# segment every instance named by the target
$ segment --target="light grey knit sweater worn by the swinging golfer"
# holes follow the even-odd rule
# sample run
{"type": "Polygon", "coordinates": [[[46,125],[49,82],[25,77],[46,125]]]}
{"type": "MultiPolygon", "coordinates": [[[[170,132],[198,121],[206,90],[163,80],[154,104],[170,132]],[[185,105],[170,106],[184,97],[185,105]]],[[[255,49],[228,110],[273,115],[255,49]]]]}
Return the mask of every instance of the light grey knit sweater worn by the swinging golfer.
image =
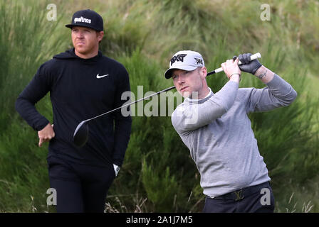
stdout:
{"type": "Polygon", "coordinates": [[[247,114],[288,106],[297,92],[274,75],[263,89],[227,82],[204,99],[185,99],[172,124],[197,165],[206,196],[220,196],[270,180],[247,114]]]}

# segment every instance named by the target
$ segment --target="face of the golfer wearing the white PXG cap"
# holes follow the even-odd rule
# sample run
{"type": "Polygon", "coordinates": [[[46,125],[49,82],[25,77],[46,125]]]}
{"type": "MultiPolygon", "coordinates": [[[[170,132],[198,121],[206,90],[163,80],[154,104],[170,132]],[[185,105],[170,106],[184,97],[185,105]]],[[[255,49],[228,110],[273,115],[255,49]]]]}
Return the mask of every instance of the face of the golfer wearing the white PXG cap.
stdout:
{"type": "Polygon", "coordinates": [[[172,79],[177,92],[183,97],[199,99],[202,93],[203,79],[206,77],[206,68],[198,67],[193,71],[173,70],[172,79]]]}

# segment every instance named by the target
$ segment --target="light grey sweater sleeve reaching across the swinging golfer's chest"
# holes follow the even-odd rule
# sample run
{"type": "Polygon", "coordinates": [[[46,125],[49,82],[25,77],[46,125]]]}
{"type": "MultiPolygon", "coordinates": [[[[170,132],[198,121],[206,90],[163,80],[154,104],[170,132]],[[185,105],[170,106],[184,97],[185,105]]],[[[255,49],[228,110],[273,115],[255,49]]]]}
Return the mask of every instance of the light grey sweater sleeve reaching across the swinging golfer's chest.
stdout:
{"type": "Polygon", "coordinates": [[[238,83],[229,81],[206,101],[184,101],[172,114],[174,128],[181,133],[193,131],[221,117],[234,104],[238,88],[238,83]]]}

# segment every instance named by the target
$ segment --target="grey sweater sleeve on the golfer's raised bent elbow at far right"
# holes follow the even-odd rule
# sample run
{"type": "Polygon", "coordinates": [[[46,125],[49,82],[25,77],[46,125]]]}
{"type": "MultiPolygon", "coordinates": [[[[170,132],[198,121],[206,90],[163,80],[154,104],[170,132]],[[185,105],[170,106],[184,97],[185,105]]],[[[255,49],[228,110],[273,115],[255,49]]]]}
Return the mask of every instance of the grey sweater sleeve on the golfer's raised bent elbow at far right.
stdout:
{"type": "Polygon", "coordinates": [[[247,102],[247,112],[271,111],[281,106],[290,105],[297,97],[297,92],[291,84],[277,74],[263,89],[251,90],[247,102]]]}

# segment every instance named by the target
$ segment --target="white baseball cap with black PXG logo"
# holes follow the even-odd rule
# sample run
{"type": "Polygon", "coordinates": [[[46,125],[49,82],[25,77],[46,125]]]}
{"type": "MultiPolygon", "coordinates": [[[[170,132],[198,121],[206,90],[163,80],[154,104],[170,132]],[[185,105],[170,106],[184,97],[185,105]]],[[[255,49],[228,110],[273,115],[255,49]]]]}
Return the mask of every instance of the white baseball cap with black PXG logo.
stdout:
{"type": "Polygon", "coordinates": [[[172,70],[196,70],[197,67],[204,67],[204,60],[199,52],[182,50],[173,55],[169,62],[169,69],[165,72],[165,78],[172,77],[172,70]]]}

